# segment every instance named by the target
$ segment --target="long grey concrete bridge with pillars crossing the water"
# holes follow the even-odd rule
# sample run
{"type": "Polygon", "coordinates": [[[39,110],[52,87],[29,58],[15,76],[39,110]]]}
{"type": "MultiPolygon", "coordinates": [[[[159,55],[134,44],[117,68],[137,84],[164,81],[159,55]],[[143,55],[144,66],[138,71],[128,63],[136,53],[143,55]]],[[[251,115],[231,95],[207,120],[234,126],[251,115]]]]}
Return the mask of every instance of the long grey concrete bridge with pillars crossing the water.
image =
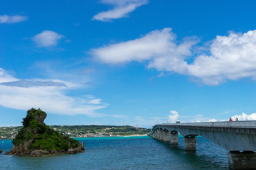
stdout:
{"type": "Polygon", "coordinates": [[[178,145],[183,135],[185,150],[196,151],[196,136],[227,149],[230,169],[256,169],[256,121],[167,123],[154,125],[149,136],[178,145]]]}

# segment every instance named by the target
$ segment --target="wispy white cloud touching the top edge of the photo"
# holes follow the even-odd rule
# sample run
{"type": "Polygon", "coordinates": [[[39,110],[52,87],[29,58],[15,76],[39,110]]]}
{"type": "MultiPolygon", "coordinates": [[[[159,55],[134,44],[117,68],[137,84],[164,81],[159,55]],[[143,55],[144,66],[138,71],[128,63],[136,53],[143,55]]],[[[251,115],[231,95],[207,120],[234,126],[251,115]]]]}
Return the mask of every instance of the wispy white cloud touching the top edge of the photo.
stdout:
{"type": "Polygon", "coordinates": [[[93,20],[112,21],[112,19],[123,18],[127,13],[134,11],[139,6],[147,4],[147,0],[102,0],[102,4],[114,6],[110,11],[97,13],[93,16],[93,20]]]}

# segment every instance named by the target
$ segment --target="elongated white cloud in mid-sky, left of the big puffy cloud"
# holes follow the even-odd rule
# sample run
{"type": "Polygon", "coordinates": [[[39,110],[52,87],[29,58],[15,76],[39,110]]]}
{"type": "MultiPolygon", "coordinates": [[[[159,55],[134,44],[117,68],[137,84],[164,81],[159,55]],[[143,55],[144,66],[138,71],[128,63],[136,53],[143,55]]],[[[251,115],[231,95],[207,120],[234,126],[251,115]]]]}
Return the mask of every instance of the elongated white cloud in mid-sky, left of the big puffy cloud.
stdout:
{"type": "Polygon", "coordinates": [[[180,45],[176,45],[175,40],[176,35],[171,33],[171,28],[164,28],[151,31],[142,38],[100,47],[91,52],[96,60],[108,64],[149,60],[149,68],[186,72],[187,64],[183,60],[191,55],[190,48],[196,40],[180,45]]]}

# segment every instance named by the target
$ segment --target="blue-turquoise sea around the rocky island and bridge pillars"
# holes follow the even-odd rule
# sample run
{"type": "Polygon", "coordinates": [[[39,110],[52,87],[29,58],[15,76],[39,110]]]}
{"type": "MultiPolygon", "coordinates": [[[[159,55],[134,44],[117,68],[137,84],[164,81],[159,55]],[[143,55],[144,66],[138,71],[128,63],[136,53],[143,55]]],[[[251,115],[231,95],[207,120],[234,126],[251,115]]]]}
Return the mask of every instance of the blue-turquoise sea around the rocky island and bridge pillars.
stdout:
{"type": "Polygon", "coordinates": [[[178,146],[151,137],[85,137],[85,152],[44,157],[4,155],[12,140],[0,140],[0,169],[228,169],[227,150],[197,137],[196,152],[185,152],[183,137],[178,146]]]}

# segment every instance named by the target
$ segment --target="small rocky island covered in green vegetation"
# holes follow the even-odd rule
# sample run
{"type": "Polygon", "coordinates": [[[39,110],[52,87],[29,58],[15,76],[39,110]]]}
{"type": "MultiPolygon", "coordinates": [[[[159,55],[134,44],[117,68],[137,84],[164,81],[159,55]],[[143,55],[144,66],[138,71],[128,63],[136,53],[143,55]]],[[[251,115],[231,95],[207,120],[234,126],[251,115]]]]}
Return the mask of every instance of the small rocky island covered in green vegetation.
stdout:
{"type": "Polygon", "coordinates": [[[12,141],[14,147],[5,154],[40,157],[46,154],[76,154],[85,152],[83,142],[71,139],[43,123],[46,113],[31,108],[23,118],[23,127],[12,141]]]}

